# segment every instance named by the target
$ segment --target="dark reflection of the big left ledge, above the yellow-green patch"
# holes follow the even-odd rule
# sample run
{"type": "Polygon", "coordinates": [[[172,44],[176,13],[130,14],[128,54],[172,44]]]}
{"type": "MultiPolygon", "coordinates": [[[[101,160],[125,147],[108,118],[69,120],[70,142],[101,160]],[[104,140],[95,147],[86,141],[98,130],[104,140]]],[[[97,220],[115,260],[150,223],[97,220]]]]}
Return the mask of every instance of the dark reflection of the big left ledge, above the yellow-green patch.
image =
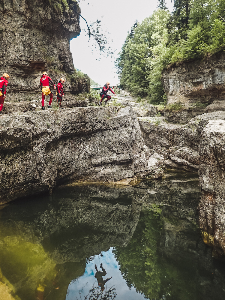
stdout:
{"type": "Polygon", "coordinates": [[[128,244],[142,207],[140,192],[126,186],[66,187],[52,199],[14,203],[1,214],[10,228],[41,242],[58,263],[80,261],[128,244]]]}

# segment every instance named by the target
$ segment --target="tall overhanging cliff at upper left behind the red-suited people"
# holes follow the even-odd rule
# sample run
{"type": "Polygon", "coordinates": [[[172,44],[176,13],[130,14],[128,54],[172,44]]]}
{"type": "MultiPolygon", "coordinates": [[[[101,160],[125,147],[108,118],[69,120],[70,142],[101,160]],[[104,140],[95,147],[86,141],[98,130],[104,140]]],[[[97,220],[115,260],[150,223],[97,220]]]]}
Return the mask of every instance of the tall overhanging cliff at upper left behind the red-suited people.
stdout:
{"type": "Polygon", "coordinates": [[[73,0],[1,1],[0,73],[10,75],[6,101],[40,99],[43,71],[55,84],[60,77],[66,79],[67,100],[89,91],[88,76],[79,78],[73,73],[69,41],[80,34],[77,11],[73,0]]]}

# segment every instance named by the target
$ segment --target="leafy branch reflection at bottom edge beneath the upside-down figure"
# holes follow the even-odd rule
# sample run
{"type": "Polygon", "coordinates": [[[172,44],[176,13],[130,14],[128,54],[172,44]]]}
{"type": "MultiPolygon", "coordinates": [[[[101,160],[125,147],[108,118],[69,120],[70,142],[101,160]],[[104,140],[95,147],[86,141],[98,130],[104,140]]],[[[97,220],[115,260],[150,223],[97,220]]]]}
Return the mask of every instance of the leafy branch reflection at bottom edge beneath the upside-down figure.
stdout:
{"type": "Polygon", "coordinates": [[[114,300],[116,298],[116,289],[110,287],[107,291],[102,292],[99,287],[95,286],[89,290],[88,295],[82,296],[83,289],[79,292],[79,298],[77,300],[114,300]]]}

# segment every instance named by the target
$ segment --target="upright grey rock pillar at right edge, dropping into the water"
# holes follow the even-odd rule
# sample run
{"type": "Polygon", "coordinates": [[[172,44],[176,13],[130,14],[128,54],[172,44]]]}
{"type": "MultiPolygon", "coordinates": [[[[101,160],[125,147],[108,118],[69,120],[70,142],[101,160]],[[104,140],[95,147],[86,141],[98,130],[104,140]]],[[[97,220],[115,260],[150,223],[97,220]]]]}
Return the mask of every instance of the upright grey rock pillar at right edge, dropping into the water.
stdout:
{"type": "Polygon", "coordinates": [[[202,130],[199,223],[206,243],[225,253],[225,119],[210,120],[202,130]]]}

